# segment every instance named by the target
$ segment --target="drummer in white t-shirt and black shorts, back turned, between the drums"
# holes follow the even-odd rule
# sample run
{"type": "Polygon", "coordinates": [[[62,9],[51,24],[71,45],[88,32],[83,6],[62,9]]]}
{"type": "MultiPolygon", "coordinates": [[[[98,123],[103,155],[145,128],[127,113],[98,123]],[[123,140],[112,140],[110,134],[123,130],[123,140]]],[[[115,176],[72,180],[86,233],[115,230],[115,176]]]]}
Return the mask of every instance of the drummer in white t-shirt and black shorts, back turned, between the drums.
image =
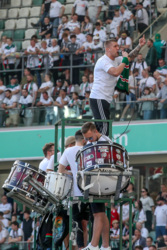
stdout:
{"type": "MultiPolygon", "coordinates": [[[[77,152],[85,145],[85,140],[81,133],[81,130],[78,130],[75,133],[76,144],[73,147],[65,149],[63,155],[59,161],[58,172],[65,174],[73,174],[73,196],[82,196],[81,191],[79,190],[76,182],[76,174],[77,174],[77,165],[75,161],[75,157],[77,152]],[[66,167],[70,165],[71,172],[69,172],[66,167]]],[[[78,227],[80,230],[77,230],[77,245],[79,249],[85,247],[84,242],[87,242],[87,239],[84,239],[84,236],[87,237],[87,222],[89,220],[89,204],[82,203],[78,204],[76,202],[73,203],[72,213],[73,220],[78,222],[78,227]]]]}

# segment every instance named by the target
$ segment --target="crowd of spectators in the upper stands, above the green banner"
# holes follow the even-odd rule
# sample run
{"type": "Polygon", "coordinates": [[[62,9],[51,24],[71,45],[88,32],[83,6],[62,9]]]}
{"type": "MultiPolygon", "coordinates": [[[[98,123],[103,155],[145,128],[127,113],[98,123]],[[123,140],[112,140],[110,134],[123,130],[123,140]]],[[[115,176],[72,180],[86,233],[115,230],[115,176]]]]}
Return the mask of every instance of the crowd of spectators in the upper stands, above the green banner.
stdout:
{"type": "MultiPolygon", "coordinates": [[[[34,107],[41,110],[38,124],[53,124],[64,116],[66,108],[69,117],[91,116],[93,66],[103,54],[105,41],[116,37],[120,53],[129,52],[133,48],[135,22],[142,32],[148,26],[151,8],[148,0],[110,1],[103,23],[99,19],[103,4],[99,0],[77,0],[70,20],[60,2],[44,1],[38,23],[32,23],[33,27],[40,27],[41,41],[35,34],[31,37],[30,46],[23,53],[23,76],[21,71],[14,71],[22,67],[14,41],[2,37],[0,67],[6,72],[0,74],[0,126],[17,126],[20,118],[22,124],[32,125],[34,107]],[[70,65],[74,68],[70,69],[70,65]]],[[[167,118],[164,45],[160,34],[156,34],[154,42],[149,39],[145,58],[139,54],[131,65],[129,95],[115,91],[111,110],[114,108],[114,115],[118,113],[121,121],[132,118],[134,113],[141,119],[167,118]]]]}

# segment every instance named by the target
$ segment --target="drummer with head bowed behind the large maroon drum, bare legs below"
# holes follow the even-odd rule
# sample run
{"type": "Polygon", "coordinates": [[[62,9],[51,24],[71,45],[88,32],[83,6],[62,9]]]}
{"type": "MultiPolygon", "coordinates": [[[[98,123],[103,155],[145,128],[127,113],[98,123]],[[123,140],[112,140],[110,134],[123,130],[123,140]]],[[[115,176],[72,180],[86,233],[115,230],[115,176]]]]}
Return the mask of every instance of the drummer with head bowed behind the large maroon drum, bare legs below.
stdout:
{"type": "MultiPolygon", "coordinates": [[[[111,139],[106,136],[100,134],[94,123],[86,122],[82,126],[82,134],[84,136],[85,141],[87,143],[95,142],[95,141],[108,141],[112,143],[111,139]]],[[[109,221],[105,214],[105,204],[104,203],[92,203],[91,209],[94,217],[93,223],[93,235],[92,240],[89,245],[84,248],[85,250],[98,250],[100,236],[102,236],[102,246],[101,250],[110,250],[109,246],[109,221]]]]}

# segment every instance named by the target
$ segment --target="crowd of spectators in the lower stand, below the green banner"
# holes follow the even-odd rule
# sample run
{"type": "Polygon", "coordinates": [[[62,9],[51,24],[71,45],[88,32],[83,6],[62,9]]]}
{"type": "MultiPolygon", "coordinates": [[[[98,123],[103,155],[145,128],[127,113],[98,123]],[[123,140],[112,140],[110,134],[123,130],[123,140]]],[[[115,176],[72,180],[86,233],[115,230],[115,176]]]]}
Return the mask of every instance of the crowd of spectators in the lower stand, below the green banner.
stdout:
{"type": "MultiPolygon", "coordinates": [[[[69,138],[71,139],[71,138],[69,138]]],[[[54,145],[54,144],[53,144],[54,145]]],[[[47,157],[47,155],[46,155],[47,157]]],[[[45,158],[46,159],[46,158],[45,158]]],[[[167,186],[161,185],[155,201],[146,188],[141,189],[140,199],[133,183],[130,183],[123,198],[131,198],[132,205],[132,249],[156,250],[167,247],[167,186]]],[[[129,203],[122,206],[122,240],[123,249],[129,249],[129,203]]],[[[37,220],[36,230],[39,228],[40,218],[37,220]]],[[[120,207],[111,206],[110,240],[112,250],[119,250],[120,236],[120,207]]],[[[24,243],[28,245],[34,238],[34,213],[20,203],[5,195],[0,203],[0,246],[3,249],[13,249],[20,242],[20,249],[24,243]],[[11,202],[11,203],[10,203],[11,202]],[[21,210],[20,210],[21,206],[21,210]],[[5,243],[5,244],[4,244],[5,243]],[[4,245],[3,245],[4,244],[4,245]],[[22,245],[21,245],[22,244],[22,245]]],[[[21,248],[22,247],[22,248],[21,248]]],[[[40,249],[40,248],[39,248],[40,249]]]]}

